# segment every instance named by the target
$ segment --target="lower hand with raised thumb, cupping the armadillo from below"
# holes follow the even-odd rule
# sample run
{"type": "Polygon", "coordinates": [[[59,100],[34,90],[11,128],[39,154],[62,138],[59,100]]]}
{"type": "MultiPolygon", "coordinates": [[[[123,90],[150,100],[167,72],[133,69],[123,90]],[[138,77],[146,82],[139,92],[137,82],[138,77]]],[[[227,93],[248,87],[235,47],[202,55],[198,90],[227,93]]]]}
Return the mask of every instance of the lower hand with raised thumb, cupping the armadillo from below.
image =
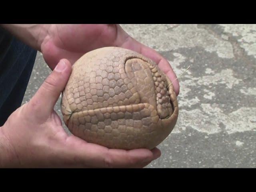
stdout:
{"type": "Polygon", "coordinates": [[[32,99],[13,112],[0,127],[0,167],[142,168],[160,150],[118,150],[68,136],[54,111],[71,73],[62,59],[32,99]]]}

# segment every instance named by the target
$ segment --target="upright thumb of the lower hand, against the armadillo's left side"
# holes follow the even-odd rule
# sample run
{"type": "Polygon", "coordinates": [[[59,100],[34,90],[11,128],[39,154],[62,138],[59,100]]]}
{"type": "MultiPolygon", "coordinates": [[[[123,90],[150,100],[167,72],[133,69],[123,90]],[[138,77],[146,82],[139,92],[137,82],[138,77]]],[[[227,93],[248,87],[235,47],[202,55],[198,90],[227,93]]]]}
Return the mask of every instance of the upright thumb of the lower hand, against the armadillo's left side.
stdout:
{"type": "Polygon", "coordinates": [[[68,60],[59,61],[53,72],[46,78],[36,94],[30,100],[29,104],[33,110],[41,115],[48,115],[54,109],[54,105],[64,90],[72,67],[68,60]]]}

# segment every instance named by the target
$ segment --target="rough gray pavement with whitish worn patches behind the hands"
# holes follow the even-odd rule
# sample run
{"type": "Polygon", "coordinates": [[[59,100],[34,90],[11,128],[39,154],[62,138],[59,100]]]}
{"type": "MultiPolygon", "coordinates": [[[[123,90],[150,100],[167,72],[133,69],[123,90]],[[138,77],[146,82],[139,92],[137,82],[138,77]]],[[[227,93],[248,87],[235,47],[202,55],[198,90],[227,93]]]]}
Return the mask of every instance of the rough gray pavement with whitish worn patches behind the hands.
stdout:
{"type": "MultiPolygon", "coordinates": [[[[132,24],[122,27],[166,57],[180,78],[173,132],[148,168],[256,167],[256,25],[132,24]]],[[[50,69],[38,52],[24,101],[50,69]]],[[[60,100],[56,104],[60,114],[60,100]]]]}

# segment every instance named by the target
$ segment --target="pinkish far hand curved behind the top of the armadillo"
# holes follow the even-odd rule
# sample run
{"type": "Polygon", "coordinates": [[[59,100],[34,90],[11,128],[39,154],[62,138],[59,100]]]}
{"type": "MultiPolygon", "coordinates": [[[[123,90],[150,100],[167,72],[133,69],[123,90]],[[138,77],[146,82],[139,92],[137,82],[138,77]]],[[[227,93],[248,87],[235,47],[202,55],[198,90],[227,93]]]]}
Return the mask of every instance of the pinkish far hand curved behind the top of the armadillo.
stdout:
{"type": "Polygon", "coordinates": [[[44,25],[43,31],[38,43],[51,69],[61,58],[67,58],[74,64],[86,52],[106,46],[118,46],[154,60],[172,81],[176,95],[179,94],[180,86],[169,62],[155,50],[134,40],[118,24],[51,24],[44,25]]]}

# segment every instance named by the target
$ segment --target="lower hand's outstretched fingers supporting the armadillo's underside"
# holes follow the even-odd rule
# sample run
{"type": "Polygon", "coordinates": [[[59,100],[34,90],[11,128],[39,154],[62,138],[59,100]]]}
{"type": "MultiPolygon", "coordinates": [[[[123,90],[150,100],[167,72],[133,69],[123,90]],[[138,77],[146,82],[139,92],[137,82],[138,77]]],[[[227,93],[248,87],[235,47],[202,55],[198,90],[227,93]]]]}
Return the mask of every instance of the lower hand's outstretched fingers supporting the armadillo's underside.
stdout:
{"type": "MultiPolygon", "coordinates": [[[[136,168],[143,167],[159,155],[157,150],[148,149],[120,150],[108,149],[97,144],[70,136],[66,140],[66,153],[75,156],[77,163],[84,167],[95,168],[136,168]]],[[[74,159],[74,158],[71,158],[74,159]]]]}

